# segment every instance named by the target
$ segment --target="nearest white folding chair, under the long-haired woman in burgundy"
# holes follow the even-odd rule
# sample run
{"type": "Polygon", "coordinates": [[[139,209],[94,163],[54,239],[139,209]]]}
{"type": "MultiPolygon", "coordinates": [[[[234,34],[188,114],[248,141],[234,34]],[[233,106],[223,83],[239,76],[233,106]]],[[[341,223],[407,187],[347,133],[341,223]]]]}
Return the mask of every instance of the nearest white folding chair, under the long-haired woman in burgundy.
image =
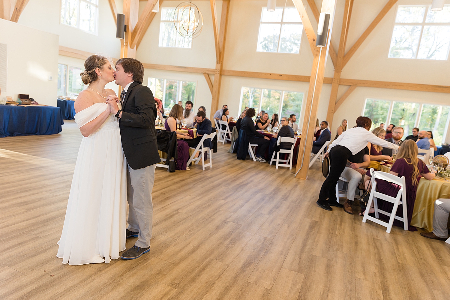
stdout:
{"type": "Polygon", "coordinates": [[[406,211],[405,176],[402,176],[401,178],[399,178],[396,175],[392,175],[392,174],[385,173],[382,171],[374,171],[370,180],[372,181],[372,191],[370,192],[369,201],[367,202],[367,208],[364,212],[363,222],[366,223],[367,220],[373,221],[377,224],[387,227],[386,232],[391,233],[392,224],[394,224],[394,219],[397,219],[397,220],[402,221],[403,228],[405,230],[408,230],[408,212],[406,211]],[[394,197],[388,196],[386,194],[383,194],[381,192],[377,192],[377,181],[375,179],[382,179],[382,180],[392,182],[393,184],[399,185],[400,190],[397,193],[397,197],[394,198],[394,197]],[[391,203],[394,203],[392,212],[388,213],[387,211],[380,210],[378,208],[378,203],[377,203],[378,198],[383,199],[385,201],[389,201],[391,203]],[[369,210],[370,210],[370,206],[372,205],[372,201],[374,202],[375,218],[369,216],[369,210]],[[403,208],[403,218],[396,216],[397,208],[399,205],[401,205],[403,208]],[[379,213],[389,216],[390,217],[389,223],[386,223],[386,222],[378,219],[379,213]]]}

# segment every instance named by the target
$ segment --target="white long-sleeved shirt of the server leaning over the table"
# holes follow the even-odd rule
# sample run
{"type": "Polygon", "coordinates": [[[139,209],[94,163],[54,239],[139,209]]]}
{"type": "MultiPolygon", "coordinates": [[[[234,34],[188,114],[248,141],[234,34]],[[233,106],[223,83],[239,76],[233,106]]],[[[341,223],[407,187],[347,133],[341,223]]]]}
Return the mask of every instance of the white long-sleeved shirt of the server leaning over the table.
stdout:
{"type": "Polygon", "coordinates": [[[363,127],[355,127],[342,132],[342,134],[328,146],[327,152],[330,152],[330,149],[334,146],[340,145],[346,147],[351,151],[352,155],[355,155],[364,149],[368,142],[395,150],[399,148],[396,144],[389,143],[384,139],[378,138],[371,131],[368,131],[363,127]]]}

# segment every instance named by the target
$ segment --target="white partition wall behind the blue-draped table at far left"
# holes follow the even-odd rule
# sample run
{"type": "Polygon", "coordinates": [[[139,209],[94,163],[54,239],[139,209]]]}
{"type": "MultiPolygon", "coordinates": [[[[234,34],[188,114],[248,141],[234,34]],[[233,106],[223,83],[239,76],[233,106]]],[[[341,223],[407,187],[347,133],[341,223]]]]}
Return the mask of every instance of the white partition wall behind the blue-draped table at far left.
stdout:
{"type": "Polygon", "coordinates": [[[56,106],[58,36],[0,19],[0,43],[6,44],[6,90],[1,97],[29,94],[40,104],[56,106]],[[20,39],[18,38],[20,37],[20,39]],[[53,80],[49,81],[48,76],[53,80]]]}

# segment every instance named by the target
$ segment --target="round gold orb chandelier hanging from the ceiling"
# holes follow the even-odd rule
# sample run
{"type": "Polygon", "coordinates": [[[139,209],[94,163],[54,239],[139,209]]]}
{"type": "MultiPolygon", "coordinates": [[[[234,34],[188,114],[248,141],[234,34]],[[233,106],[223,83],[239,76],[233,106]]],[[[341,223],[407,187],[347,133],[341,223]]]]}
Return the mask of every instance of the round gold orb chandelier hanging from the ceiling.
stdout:
{"type": "Polygon", "coordinates": [[[193,39],[202,32],[203,15],[191,1],[181,2],[175,8],[173,23],[180,36],[193,39]]]}

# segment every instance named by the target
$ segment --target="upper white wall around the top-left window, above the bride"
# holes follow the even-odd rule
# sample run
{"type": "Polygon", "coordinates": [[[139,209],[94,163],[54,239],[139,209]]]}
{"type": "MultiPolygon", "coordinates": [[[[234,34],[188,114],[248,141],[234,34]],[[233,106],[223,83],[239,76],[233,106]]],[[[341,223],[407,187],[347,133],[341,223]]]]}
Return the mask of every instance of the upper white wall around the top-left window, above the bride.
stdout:
{"type": "MultiPolygon", "coordinates": [[[[121,13],[123,1],[115,2],[121,13]]],[[[108,0],[99,0],[98,35],[60,24],[60,5],[61,0],[30,0],[18,23],[59,35],[61,46],[120,57],[120,40],[116,38],[116,23],[108,0]]]]}

